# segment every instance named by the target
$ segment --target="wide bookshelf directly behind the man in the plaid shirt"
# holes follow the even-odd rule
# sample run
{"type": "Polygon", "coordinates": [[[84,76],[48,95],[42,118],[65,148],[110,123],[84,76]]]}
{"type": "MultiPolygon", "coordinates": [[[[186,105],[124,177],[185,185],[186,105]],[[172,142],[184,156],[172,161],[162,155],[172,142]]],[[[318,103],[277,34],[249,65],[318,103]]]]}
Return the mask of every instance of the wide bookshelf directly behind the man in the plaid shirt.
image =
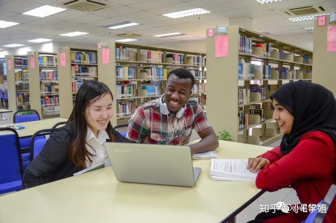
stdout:
{"type": "Polygon", "coordinates": [[[167,74],[175,68],[186,68],[195,74],[198,78],[195,85],[200,87],[194,87],[197,94],[193,97],[199,98],[199,102],[205,106],[205,54],[165,47],[100,42],[98,66],[98,81],[108,85],[116,101],[113,106],[115,115],[111,120],[113,126],[127,123],[136,107],[161,97],[167,74]],[[109,52],[108,64],[103,63],[103,51],[105,55],[109,52]]]}

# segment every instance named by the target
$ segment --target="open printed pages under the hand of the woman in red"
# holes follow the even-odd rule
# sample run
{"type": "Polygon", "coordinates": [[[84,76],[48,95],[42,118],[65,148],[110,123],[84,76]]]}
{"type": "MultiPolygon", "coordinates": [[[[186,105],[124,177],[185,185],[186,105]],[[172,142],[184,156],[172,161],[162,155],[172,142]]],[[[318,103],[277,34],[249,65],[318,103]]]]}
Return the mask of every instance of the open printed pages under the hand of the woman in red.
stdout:
{"type": "Polygon", "coordinates": [[[211,159],[210,175],[214,181],[255,181],[257,173],[246,169],[248,160],[211,159]]]}

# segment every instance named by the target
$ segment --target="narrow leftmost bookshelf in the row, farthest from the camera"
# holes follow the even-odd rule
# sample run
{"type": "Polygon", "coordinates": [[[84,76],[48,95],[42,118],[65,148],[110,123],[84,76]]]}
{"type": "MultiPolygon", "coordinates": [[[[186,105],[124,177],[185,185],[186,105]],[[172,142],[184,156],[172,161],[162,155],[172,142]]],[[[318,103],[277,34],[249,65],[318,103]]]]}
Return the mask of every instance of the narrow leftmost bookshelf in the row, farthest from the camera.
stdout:
{"type": "MultiPolygon", "coordinates": [[[[9,109],[15,112],[18,109],[21,110],[29,108],[29,75],[27,56],[6,55],[5,58],[9,109]]],[[[10,116],[11,115],[12,114],[10,114],[10,116]]]]}

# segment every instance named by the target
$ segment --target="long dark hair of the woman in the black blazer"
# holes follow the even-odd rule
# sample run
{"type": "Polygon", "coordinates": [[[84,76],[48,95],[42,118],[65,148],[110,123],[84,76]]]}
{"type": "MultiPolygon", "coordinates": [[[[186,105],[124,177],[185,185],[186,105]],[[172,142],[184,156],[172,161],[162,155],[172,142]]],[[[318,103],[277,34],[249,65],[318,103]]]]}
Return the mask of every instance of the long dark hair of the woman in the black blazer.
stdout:
{"type": "MultiPolygon", "coordinates": [[[[74,109],[67,122],[67,124],[73,123],[75,128],[75,139],[70,146],[68,157],[74,162],[78,169],[86,168],[86,158],[92,163],[92,156],[94,155],[86,149],[87,123],[84,117],[85,109],[106,94],[110,94],[113,100],[112,92],[108,86],[97,81],[84,82],[78,90],[74,109]]],[[[110,140],[115,142],[116,137],[112,134],[112,129],[113,127],[109,121],[106,132],[110,140]]]]}

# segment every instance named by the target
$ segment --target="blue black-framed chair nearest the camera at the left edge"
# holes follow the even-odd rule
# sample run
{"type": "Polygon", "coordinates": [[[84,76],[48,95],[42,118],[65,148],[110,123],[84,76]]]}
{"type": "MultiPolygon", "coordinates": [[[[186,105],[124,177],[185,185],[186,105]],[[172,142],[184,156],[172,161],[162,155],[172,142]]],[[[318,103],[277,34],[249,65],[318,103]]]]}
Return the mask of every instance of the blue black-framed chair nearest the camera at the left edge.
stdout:
{"type": "Polygon", "coordinates": [[[7,127],[0,127],[0,131],[14,133],[0,135],[0,194],[4,194],[22,190],[23,166],[17,132],[7,127]]]}

